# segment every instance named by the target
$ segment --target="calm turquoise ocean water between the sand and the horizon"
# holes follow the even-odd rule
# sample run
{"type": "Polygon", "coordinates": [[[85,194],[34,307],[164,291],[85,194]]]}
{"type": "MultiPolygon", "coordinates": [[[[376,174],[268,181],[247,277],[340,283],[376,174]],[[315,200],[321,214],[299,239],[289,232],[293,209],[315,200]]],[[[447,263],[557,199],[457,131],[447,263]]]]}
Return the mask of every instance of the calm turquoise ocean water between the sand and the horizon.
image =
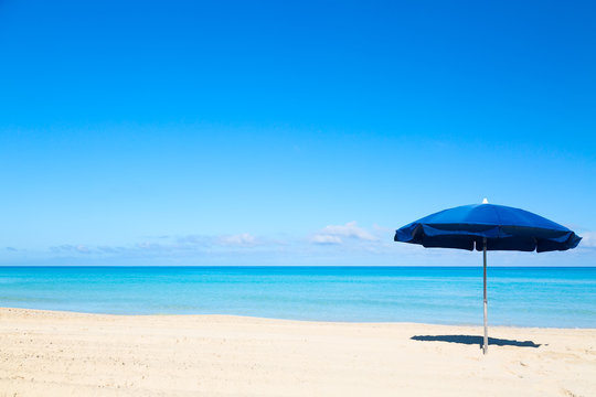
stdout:
{"type": "MultiPolygon", "coordinates": [[[[488,269],[489,324],[596,328],[596,268],[488,269]]],[[[0,267],[0,307],[482,323],[482,268],[0,267]]]]}

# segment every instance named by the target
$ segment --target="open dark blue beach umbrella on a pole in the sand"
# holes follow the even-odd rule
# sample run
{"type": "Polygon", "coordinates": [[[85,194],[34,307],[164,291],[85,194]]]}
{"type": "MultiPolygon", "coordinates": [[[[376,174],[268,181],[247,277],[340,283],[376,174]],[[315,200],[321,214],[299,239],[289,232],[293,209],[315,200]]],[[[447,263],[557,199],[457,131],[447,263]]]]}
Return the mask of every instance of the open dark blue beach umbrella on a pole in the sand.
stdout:
{"type": "Polygon", "coordinates": [[[565,226],[531,212],[504,205],[462,205],[423,217],[395,233],[394,240],[426,248],[459,248],[483,251],[485,345],[487,324],[487,250],[552,251],[577,247],[582,237],[565,226]]]}

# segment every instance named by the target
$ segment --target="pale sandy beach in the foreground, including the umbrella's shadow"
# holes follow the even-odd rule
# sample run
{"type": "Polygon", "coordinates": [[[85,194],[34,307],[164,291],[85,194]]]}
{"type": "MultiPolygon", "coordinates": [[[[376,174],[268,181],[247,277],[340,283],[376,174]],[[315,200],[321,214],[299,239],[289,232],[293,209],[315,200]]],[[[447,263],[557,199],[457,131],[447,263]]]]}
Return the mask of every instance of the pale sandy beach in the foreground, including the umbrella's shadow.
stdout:
{"type": "Polygon", "coordinates": [[[596,396],[596,330],[0,309],[0,396],[596,396]]]}

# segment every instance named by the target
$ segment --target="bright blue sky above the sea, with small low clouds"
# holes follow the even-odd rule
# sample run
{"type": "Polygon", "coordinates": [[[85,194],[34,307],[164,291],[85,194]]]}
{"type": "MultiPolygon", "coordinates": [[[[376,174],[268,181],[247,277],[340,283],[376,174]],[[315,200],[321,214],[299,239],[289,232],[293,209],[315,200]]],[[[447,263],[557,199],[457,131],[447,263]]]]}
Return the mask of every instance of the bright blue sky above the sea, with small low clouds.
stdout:
{"type": "Polygon", "coordinates": [[[479,265],[392,239],[488,197],[596,266],[595,15],[0,0],[0,264],[479,265]]]}

